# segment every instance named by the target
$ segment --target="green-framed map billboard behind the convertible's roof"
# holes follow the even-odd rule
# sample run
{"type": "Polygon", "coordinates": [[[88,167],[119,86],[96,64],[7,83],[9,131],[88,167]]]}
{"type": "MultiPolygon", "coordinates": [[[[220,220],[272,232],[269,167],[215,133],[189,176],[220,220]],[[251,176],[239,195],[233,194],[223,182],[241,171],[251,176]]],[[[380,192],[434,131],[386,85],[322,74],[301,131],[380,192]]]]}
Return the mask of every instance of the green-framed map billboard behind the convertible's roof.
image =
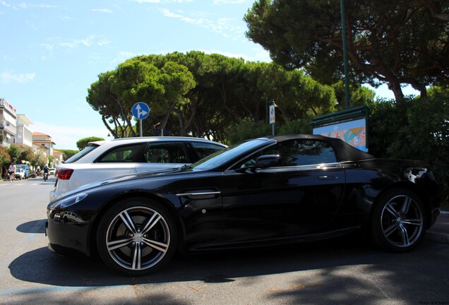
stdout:
{"type": "Polygon", "coordinates": [[[340,138],[349,145],[368,151],[368,109],[357,107],[313,119],[313,134],[340,138]]]}

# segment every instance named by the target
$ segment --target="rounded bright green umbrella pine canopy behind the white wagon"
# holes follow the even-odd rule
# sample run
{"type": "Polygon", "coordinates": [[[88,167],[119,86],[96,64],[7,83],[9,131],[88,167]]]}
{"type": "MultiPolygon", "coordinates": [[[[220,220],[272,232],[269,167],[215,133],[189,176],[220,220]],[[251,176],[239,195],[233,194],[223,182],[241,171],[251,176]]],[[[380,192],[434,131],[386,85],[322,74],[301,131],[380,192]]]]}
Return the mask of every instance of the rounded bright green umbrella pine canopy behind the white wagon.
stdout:
{"type": "Polygon", "coordinates": [[[145,135],[168,128],[174,136],[223,143],[239,124],[266,121],[271,102],[277,104],[279,124],[326,114],[337,104],[331,86],[300,70],[195,51],[128,59],[101,73],[86,99],[115,138],[138,134],[131,108],[145,102],[150,107],[145,135]]]}

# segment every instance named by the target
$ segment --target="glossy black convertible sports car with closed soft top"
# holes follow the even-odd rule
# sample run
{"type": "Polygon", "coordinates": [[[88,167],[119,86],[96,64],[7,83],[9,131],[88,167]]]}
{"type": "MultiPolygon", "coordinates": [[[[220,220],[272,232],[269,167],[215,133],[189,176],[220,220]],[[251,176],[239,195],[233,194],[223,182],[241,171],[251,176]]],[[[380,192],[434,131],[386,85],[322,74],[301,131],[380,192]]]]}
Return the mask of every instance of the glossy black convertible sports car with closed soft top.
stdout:
{"type": "Polygon", "coordinates": [[[147,274],[175,251],[275,246],[361,227],[388,251],[417,246],[440,213],[439,188],[417,161],[376,159],[342,140],[247,140],[184,166],[98,181],[49,203],[49,249],[99,253],[147,274]]]}

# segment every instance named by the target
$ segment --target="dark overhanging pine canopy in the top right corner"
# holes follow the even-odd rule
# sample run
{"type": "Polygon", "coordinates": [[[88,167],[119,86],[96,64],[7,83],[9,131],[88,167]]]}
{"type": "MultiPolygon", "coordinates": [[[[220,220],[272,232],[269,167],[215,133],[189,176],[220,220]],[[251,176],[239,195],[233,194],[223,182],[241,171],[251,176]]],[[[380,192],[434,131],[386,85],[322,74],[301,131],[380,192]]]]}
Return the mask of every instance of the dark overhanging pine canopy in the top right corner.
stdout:
{"type": "MultiPolygon", "coordinates": [[[[345,1],[352,83],[402,85],[426,96],[426,86],[449,83],[448,0],[345,1]]],[[[305,68],[323,83],[342,79],[340,2],[258,0],[246,13],[247,37],[286,68],[305,68]]]]}

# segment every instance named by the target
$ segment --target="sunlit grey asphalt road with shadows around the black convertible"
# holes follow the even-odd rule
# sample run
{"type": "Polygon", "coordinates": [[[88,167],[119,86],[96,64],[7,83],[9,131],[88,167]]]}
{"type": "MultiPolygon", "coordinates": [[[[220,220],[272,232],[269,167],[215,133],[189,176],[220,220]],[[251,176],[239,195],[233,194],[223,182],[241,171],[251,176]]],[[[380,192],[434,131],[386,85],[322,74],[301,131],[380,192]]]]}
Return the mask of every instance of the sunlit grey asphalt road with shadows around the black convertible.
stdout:
{"type": "Polygon", "coordinates": [[[146,277],[47,250],[54,178],[0,181],[0,304],[447,304],[449,245],[385,253],[357,239],[176,256],[146,277]]]}

